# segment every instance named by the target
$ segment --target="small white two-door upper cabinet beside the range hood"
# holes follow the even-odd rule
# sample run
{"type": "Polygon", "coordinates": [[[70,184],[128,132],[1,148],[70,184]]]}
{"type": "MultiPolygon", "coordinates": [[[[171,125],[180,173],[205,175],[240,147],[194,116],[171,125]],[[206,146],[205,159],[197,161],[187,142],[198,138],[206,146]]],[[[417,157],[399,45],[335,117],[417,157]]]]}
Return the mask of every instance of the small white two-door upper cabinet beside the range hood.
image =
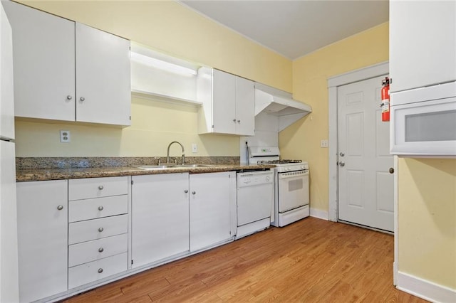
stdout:
{"type": "Polygon", "coordinates": [[[199,133],[254,135],[254,82],[211,68],[197,78],[199,133]]]}

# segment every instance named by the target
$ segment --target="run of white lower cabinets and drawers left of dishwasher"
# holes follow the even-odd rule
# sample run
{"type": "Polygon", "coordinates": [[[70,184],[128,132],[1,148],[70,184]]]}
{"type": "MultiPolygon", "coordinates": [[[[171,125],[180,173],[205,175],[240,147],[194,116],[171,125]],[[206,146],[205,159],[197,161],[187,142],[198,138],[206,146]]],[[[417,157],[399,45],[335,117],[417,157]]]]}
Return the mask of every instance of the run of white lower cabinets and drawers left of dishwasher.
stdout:
{"type": "Polygon", "coordinates": [[[17,206],[20,301],[63,299],[234,240],[236,173],[19,182],[17,206]]]}

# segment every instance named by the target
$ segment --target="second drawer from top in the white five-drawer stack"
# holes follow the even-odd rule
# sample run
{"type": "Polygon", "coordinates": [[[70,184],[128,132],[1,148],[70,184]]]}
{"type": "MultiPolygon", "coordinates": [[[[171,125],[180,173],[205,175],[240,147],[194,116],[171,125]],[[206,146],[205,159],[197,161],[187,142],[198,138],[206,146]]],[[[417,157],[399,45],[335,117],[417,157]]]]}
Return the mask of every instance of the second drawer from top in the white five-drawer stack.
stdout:
{"type": "Polygon", "coordinates": [[[128,195],[70,201],[68,221],[76,222],[128,213],[128,195]]]}

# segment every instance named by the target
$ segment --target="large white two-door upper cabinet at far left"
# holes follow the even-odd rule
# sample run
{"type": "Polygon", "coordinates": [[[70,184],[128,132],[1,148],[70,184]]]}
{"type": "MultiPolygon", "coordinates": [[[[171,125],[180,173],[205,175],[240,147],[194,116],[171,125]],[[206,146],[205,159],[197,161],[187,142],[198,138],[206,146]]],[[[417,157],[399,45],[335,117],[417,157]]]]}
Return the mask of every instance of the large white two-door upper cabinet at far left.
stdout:
{"type": "Polygon", "coordinates": [[[130,41],[11,1],[4,6],[17,117],[130,125],[130,41]]]}

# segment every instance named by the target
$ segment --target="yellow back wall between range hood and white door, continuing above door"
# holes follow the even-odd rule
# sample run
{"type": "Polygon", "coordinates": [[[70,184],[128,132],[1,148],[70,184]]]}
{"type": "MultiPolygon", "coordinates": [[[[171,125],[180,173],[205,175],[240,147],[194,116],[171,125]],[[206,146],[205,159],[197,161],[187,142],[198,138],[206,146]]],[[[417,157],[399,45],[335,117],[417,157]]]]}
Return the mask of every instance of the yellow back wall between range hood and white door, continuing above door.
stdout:
{"type": "Polygon", "coordinates": [[[328,211],[328,78],[388,60],[388,23],[380,24],[293,62],[293,97],[312,113],[279,135],[281,154],[309,161],[311,208],[328,211]]]}

